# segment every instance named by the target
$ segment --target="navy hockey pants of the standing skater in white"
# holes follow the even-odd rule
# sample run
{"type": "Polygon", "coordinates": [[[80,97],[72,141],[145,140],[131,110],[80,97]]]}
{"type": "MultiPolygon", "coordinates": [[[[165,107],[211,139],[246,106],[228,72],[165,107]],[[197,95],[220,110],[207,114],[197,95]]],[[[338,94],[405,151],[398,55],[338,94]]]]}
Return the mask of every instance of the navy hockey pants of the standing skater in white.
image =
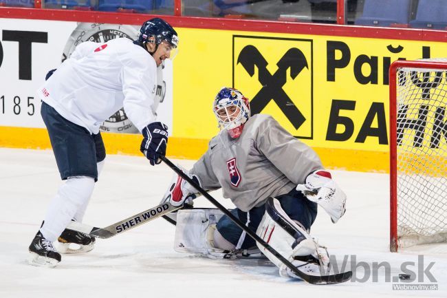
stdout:
{"type": "Polygon", "coordinates": [[[101,134],[90,134],[85,127],[63,118],[45,102],[42,102],[41,116],[50,136],[61,179],[88,176],[97,181],[96,163],[105,159],[101,134]]]}

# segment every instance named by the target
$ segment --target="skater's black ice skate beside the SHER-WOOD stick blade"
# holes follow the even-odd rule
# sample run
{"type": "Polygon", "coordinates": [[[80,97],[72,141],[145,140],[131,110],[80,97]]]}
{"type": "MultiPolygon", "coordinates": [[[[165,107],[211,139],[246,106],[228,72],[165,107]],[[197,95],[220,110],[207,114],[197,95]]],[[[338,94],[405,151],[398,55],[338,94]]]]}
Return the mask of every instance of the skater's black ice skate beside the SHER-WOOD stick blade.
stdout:
{"type": "Polygon", "coordinates": [[[94,248],[95,238],[85,233],[65,229],[58,237],[61,253],[87,253],[94,248]]]}

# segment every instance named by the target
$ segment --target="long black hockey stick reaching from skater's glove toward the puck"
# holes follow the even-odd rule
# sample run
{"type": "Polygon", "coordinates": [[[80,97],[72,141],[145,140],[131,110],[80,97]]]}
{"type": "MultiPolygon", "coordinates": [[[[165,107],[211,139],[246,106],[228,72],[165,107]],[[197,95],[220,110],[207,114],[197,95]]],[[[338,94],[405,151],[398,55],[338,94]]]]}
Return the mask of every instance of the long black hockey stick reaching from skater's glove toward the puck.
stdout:
{"type": "Polygon", "coordinates": [[[199,193],[204,195],[205,198],[208,199],[213,205],[215,205],[220,211],[222,211],[225,215],[227,215],[232,222],[237,224],[239,228],[241,228],[243,231],[245,231],[250,237],[253,238],[256,242],[261,244],[263,248],[267,249],[274,255],[276,258],[278,258],[287,268],[292,270],[293,273],[295,273],[298,277],[301,277],[304,281],[307,281],[309,284],[339,284],[344,281],[348,281],[351,279],[352,272],[347,271],[345,273],[336,273],[334,275],[308,275],[306,273],[303,273],[302,271],[298,270],[289,260],[285,259],[280,253],[278,253],[272,246],[270,246],[267,242],[261,239],[256,233],[254,233],[250,228],[245,226],[235,215],[232,215],[230,211],[228,211],[224,206],[222,206],[215,198],[212,198],[210,194],[208,194],[204,189],[202,189],[197,183],[195,183],[191,178],[188,177],[181,169],[179,169],[175,164],[173,164],[168,158],[165,156],[160,156],[160,159],[164,161],[170,167],[184,180],[186,180],[189,184],[191,184],[199,193]]]}

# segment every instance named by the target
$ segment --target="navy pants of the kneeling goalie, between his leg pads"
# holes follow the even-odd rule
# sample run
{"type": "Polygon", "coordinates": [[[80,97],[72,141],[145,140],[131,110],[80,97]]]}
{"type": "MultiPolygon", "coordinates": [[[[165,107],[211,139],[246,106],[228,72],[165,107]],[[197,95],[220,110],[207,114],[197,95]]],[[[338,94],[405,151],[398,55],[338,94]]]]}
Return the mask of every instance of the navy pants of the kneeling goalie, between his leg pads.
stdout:
{"type": "MultiPolygon", "coordinates": [[[[292,189],[292,191],[284,195],[279,195],[276,199],[279,200],[281,207],[292,220],[300,222],[307,230],[310,230],[310,226],[314,223],[317,213],[317,204],[315,202],[307,200],[301,191],[296,191],[295,189],[292,189]]],[[[243,224],[249,222],[248,228],[256,233],[265,213],[265,205],[255,207],[248,213],[239,209],[233,209],[231,213],[239,218],[243,224]]],[[[243,233],[242,229],[226,215],[223,215],[219,222],[217,222],[217,231],[221,233],[223,238],[236,247],[238,247],[238,244],[241,245],[241,249],[256,246],[256,242],[252,237],[243,233]]]]}

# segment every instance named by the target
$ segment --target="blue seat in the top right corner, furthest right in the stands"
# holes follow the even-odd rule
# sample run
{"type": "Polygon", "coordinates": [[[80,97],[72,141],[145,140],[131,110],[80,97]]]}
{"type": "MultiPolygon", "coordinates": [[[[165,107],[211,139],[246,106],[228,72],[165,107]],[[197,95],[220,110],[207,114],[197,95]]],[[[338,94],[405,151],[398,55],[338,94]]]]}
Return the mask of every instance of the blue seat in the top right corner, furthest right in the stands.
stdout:
{"type": "Polygon", "coordinates": [[[412,28],[441,29],[447,28],[446,0],[419,0],[416,18],[410,21],[412,28]]]}

